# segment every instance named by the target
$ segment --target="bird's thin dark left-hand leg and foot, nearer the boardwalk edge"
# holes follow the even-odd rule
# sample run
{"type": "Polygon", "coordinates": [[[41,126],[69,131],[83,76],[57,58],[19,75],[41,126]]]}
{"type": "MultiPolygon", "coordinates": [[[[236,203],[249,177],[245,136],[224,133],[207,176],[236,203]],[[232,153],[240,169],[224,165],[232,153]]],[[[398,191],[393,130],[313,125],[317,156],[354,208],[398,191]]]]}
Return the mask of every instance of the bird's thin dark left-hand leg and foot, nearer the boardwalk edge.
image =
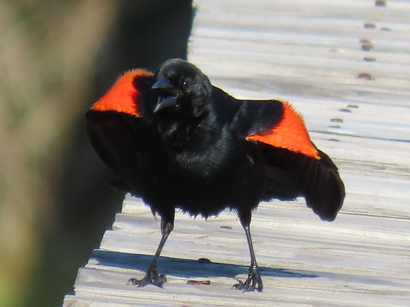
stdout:
{"type": "Polygon", "coordinates": [[[162,248],[167,241],[167,238],[171,231],[174,229],[174,212],[168,216],[163,215],[161,217],[161,241],[159,242],[157,251],[155,253],[154,259],[151,262],[147,270],[147,274],[141,280],[136,278],[131,278],[127,281],[127,284],[135,284],[137,287],[145,287],[147,284],[155,284],[159,288],[162,288],[163,283],[167,282],[167,277],[163,274],[158,274],[157,272],[157,262],[159,255],[161,254],[162,248]]]}

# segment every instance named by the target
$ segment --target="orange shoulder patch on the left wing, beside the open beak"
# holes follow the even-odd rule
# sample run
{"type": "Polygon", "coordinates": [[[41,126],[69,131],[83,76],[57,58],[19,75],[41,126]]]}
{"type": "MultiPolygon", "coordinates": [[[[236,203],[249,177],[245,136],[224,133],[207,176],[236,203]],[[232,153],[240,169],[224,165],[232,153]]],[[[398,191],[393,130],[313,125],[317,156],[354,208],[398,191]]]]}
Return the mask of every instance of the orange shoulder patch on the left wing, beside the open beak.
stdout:
{"type": "MultiPolygon", "coordinates": [[[[138,104],[134,99],[142,96],[134,86],[136,77],[152,77],[153,73],[137,69],[126,72],[119,77],[111,89],[100,100],[98,100],[91,109],[94,111],[116,111],[130,115],[140,116],[138,113],[138,104]]],[[[138,100],[138,99],[137,99],[138,100]]]]}

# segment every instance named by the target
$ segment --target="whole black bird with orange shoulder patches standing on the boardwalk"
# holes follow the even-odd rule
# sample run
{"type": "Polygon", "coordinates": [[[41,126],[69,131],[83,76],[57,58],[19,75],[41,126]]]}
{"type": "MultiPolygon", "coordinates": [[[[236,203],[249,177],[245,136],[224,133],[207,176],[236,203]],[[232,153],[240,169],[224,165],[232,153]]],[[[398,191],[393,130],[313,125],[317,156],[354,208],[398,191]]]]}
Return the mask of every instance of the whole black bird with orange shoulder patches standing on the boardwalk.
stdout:
{"type": "Polygon", "coordinates": [[[168,60],[155,74],[125,73],[86,117],[93,147],[120,178],[114,185],[161,216],[162,238],[146,276],[128,281],[138,287],[166,282],[156,267],[175,208],[204,217],[235,209],[251,266],[233,288],[262,291],[249,227],[258,203],[304,196],[325,221],[342,206],[337,167],[288,102],[237,100],[189,62],[168,60]]]}

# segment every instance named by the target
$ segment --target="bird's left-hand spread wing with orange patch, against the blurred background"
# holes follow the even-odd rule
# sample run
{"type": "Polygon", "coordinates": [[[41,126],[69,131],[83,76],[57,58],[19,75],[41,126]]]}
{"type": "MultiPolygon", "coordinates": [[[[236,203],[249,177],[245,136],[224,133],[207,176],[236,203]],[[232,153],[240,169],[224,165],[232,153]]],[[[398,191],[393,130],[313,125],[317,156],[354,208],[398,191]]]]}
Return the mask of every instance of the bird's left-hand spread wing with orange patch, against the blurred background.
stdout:
{"type": "Polygon", "coordinates": [[[155,138],[148,107],[153,81],[148,71],[130,71],[86,112],[92,146],[122,180],[115,185],[134,193],[140,161],[155,138]]]}

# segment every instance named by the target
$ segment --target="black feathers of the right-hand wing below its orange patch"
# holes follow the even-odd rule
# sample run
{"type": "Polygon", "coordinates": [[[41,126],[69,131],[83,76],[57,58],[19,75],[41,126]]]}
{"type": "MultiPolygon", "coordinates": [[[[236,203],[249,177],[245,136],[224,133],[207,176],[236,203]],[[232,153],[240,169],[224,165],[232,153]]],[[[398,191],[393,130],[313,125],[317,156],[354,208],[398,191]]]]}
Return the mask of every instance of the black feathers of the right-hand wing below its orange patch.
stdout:
{"type": "Polygon", "coordinates": [[[318,150],[318,160],[269,144],[260,143],[259,146],[268,177],[265,199],[289,200],[304,196],[306,205],[322,220],[335,220],[345,191],[338,169],[329,156],[318,150]]]}

